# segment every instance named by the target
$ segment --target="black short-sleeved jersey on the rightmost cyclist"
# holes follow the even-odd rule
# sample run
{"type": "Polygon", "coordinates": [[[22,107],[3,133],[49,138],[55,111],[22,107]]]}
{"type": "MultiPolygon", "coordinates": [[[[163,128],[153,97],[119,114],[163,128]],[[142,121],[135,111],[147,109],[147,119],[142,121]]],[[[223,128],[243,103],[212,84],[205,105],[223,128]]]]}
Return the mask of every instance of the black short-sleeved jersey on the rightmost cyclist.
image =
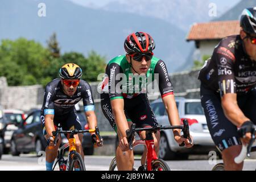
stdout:
{"type": "Polygon", "coordinates": [[[256,64],[246,55],[240,35],[228,36],[214,48],[199,73],[207,88],[221,93],[245,94],[256,85],[256,64]]]}

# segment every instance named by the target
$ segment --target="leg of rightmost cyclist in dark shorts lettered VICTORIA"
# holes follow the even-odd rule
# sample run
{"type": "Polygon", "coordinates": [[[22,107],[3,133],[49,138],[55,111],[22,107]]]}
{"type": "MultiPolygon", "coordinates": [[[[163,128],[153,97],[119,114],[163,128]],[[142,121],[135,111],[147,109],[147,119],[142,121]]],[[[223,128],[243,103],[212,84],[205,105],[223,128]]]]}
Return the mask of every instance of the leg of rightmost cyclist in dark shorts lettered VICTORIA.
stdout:
{"type": "Polygon", "coordinates": [[[243,163],[234,162],[234,158],[241,151],[237,127],[225,117],[220,96],[217,93],[205,88],[202,84],[200,92],[208,129],[213,142],[222,151],[225,170],[242,170],[243,163]]]}

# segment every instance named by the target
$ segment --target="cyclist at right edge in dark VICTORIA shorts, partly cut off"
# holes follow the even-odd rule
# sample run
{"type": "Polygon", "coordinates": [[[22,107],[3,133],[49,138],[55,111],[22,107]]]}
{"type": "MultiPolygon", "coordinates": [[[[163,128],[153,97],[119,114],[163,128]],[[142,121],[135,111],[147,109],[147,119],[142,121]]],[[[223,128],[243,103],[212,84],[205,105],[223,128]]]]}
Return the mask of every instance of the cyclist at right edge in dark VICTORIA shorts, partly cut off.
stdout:
{"type": "Polygon", "coordinates": [[[240,26],[240,35],[222,39],[199,73],[201,104],[225,170],[242,169],[234,158],[241,142],[249,143],[256,122],[256,7],[243,10],[240,26]],[[247,133],[245,138],[237,127],[247,133]]]}

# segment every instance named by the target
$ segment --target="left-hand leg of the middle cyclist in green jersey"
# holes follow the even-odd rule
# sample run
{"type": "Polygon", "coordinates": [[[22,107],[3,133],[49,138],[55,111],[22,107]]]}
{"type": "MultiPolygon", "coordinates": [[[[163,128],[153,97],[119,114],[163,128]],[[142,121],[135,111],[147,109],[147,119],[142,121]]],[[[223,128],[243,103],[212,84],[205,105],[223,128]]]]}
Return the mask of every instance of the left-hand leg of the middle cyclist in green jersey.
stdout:
{"type": "MultiPolygon", "coordinates": [[[[105,117],[108,119],[110,125],[118,134],[118,138],[119,138],[120,135],[119,135],[119,131],[117,130],[117,125],[115,124],[115,121],[114,121],[114,115],[113,115],[112,107],[110,104],[109,94],[106,94],[106,93],[101,94],[101,109],[105,117]]],[[[126,115],[126,118],[128,118],[127,115],[126,115]]],[[[121,170],[131,171],[133,169],[133,165],[134,165],[133,150],[128,150],[123,152],[118,145],[117,150],[115,151],[115,158],[117,160],[117,168],[119,171],[121,170]]]]}

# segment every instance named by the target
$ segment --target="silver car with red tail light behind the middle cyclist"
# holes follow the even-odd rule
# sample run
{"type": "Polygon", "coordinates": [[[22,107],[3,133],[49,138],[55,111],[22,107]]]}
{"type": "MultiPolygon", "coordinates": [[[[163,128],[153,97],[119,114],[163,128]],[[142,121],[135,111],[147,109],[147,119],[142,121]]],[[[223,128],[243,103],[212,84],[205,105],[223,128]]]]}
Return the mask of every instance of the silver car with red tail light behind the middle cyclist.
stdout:
{"type": "MultiPolygon", "coordinates": [[[[160,137],[159,158],[175,159],[177,156],[187,158],[188,154],[208,154],[209,151],[217,151],[210,137],[201,101],[183,97],[175,97],[175,100],[181,121],[188,119],[194,146],[192,148],[180,147],[174,139],[172,130],[163,130],[160,137]]],[[[151,107],[159,125],[170,125],[161,98],[152,102],[151,107]]]]}

